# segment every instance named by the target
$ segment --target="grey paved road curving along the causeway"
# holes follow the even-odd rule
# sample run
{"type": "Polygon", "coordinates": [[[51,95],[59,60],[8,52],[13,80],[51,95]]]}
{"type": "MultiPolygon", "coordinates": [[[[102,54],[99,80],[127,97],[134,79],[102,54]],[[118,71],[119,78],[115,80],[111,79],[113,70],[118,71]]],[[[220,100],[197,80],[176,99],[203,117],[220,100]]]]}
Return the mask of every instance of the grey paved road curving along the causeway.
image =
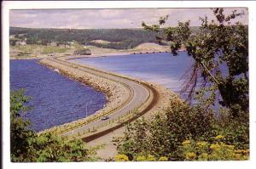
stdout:
{"type": "Polygon", "coordinates": [[[128,103],[126,103],[124,106],[122,106],[120,109],[118,109],[118,110],[114,111],[112,114],[108,115],[108,117],[109,117],[108,120],[102,121],[100,119],[100,120],[92,121],[89,124],[86,124],[82,127],[62,133],[61,135],[63,135],[63,136],[73,135],[78,132],[83,133],[83,131],[87,131],[89,128],[91,129],[92,127],[96,127],[96,126],[102,125],[103,123],[106,123],[108,121],[112,121],[113,119],[117,119],[119,117],[119,115],[125,115],[128,111],[137,109],[137,107],[140,104],[142,104],[143,102],[146,101],[146,99],[148,99],[148,96],[149,96],[148,89],[146,87],[144,87],[142,84],[140,84],[139,82],[134,82],[134,81],[131,81],[129,79],[126,79],[126,78],[120,77],[120,76],[114,76],[112,74],[108,74],[103,71],[93,70],[93,69],[90,69],[90,68],[82,66],[82,65],[72,64],[70,62],[62,61],[60,59],[50,59],[50,60],[57,62],[59,64],[62,64],[62,65],[73,66],[74,69],[79,69],[86,73],[91,73],[91,74],[94,74],[97,76],[102,76],[103,78],[107,78],[108,80],[113,80],[114,82],[120,82],[121,84],[124,84],[125,87],[128,87],[131,92],[130,101],[128,103]]]}

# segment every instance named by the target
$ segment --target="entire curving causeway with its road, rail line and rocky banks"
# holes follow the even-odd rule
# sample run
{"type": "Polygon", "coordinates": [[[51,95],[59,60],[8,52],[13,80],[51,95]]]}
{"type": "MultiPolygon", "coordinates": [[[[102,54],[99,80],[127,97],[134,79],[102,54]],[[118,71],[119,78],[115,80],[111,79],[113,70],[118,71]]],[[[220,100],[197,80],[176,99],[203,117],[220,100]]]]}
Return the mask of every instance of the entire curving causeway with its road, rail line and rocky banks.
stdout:
{"type": "Polygon", "coordinates": [[[68,139],[82,138],[84,142],[90,142],[124,127],[128,122],[136,120],[149,111],[163,109],[168,104],[170,96],[177,98],[175,93],[163,87],[129,76],[98,70],[89,65],[74,64],[65,57],[42,59],[39,63],[107,93],[108,103],[102,110],[84,119],[43,131],[55,132],[68,139]],[[108,116],[108,119],[102,120],[104,116],[108,116]]]}

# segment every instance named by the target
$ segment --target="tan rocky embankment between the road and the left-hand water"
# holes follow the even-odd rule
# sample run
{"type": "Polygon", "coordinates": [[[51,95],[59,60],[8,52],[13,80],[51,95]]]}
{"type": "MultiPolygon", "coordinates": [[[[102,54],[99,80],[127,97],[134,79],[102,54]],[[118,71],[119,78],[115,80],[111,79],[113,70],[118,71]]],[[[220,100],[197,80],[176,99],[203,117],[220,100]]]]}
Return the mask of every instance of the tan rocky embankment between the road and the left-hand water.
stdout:
{"type": "Polygon", "coordinates": [[[129,89],[119,82],[113,82],[101,76],[86,73],[79,69],[73,69],[73,67],[61,65],[60,63],[50,59],[42,59],[39,63],[49,67],[50,69],[57,69],[64,76],[68,76],[73,80],[82,82],[84,85],[94,87],[97,91],[106,93],[106,98],[108,101],[102,110],[96,111],[96,113],[93,115],[79,119],[78,121],[63,124],[58,127],[49,128],[43,132],[67,132],[74,127],[82,126],[90,121],[94,121],[95,119],[100,118],[102,115],[107,115],[109,112],[124,104],[126,100],[130,98],[131,93],[129,89]]]}

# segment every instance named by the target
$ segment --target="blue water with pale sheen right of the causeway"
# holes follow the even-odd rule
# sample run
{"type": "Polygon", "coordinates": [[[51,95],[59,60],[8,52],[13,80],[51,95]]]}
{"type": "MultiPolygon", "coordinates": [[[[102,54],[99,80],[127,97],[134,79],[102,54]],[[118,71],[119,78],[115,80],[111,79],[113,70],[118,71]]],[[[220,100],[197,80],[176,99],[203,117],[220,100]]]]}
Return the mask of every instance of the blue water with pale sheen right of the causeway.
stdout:
{"type": "Polygon", "coordinates": [[[70,61],[155,82],[176,93],[180,93],[189,76],[186,72],[189,72],[193,65],[193,60],[185,52],[180,52],[178,56],[170,53],[131,54],[70,61]]]}

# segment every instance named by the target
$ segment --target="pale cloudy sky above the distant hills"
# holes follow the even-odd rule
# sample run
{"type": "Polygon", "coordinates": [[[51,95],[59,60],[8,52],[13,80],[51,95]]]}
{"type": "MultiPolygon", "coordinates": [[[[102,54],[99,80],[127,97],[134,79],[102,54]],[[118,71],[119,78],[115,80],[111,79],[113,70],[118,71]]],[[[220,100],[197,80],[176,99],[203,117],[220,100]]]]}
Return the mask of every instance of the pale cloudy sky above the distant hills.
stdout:
{"type": "MultiPolygon", "coordinates": [[[[244,11],[236,21],[247,25],[247,8],[225,8],[225,14],[233,10],[244,11]]],[[[190,25],[201,25],[199,17],[214,19],[211,8],[126,8],[126,9],[26,9],[10,10],[9,24],[28,28],[141,28],[142,22],[157,24],[160,16],[169,15],[168,26],[177,21],[190,20],[190,25]]]]}

